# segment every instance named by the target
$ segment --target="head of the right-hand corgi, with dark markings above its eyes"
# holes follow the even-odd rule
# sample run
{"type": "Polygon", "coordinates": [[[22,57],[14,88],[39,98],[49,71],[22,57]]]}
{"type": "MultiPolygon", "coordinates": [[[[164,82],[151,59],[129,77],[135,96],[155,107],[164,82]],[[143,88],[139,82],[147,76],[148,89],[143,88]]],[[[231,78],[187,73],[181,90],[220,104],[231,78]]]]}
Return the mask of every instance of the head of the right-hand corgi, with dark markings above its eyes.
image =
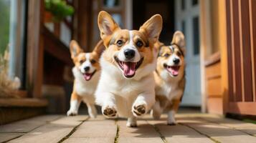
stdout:
{"type": "Polygon", "coordinates": [[[161,46],[158,52],[157,70],[167,71],[171,77],[184,73],[184,34],[176,31],[171,46],[161,46]]]}

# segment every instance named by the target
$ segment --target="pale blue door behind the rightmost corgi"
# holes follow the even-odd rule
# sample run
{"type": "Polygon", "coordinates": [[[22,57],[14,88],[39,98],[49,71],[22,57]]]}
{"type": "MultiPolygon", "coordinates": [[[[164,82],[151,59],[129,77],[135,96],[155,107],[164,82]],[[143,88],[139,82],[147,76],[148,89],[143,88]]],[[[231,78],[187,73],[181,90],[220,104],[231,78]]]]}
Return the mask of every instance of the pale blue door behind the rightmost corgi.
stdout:
{"type": "Polygon", "coordinates": [[[182,105],[201,106],[199,1],[175,1],[175,29],[186,39],[186,88],[182,105]]]}

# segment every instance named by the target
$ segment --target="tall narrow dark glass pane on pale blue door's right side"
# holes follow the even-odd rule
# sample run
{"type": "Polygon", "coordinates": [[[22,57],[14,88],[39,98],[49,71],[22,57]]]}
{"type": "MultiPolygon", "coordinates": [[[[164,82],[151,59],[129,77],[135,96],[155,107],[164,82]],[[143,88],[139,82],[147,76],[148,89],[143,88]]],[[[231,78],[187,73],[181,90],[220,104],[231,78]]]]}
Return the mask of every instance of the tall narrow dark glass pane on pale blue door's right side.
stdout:
{"type": "Polygon", "coordinates": [[[199,16],[193,18],[194,55],[199,54],[199,16]]]}

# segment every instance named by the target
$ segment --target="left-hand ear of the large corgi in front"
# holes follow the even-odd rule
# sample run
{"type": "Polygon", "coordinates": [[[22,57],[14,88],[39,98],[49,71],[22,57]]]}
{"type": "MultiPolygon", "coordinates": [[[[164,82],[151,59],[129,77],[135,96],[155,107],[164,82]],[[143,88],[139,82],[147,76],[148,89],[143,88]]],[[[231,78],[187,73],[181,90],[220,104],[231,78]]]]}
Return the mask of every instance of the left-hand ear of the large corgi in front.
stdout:
{"type": "Polygon", "coordinates": [[[105,36],[113,34],[116,29],[120,29],[112,16],[110,16],[106,11],[100,11],[98,15],[98,26],[100,29],[100,37],[102,39],[104,39],[105,36]]]}

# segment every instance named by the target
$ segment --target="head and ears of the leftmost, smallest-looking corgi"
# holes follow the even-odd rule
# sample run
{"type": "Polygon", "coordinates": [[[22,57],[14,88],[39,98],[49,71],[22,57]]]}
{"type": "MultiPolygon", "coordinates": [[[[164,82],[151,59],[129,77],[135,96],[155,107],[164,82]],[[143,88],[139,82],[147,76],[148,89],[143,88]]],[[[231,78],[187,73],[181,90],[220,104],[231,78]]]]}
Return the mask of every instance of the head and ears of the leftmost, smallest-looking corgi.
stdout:
{"type": "Polygon", "coordinates": [[[76,41],[70,42],[72,60],[86,81],[92,79],[93,75],[100,71],[99,59],[104,49],[103,41],[99,41],[92,52],[85,53],[76,41]]]}

